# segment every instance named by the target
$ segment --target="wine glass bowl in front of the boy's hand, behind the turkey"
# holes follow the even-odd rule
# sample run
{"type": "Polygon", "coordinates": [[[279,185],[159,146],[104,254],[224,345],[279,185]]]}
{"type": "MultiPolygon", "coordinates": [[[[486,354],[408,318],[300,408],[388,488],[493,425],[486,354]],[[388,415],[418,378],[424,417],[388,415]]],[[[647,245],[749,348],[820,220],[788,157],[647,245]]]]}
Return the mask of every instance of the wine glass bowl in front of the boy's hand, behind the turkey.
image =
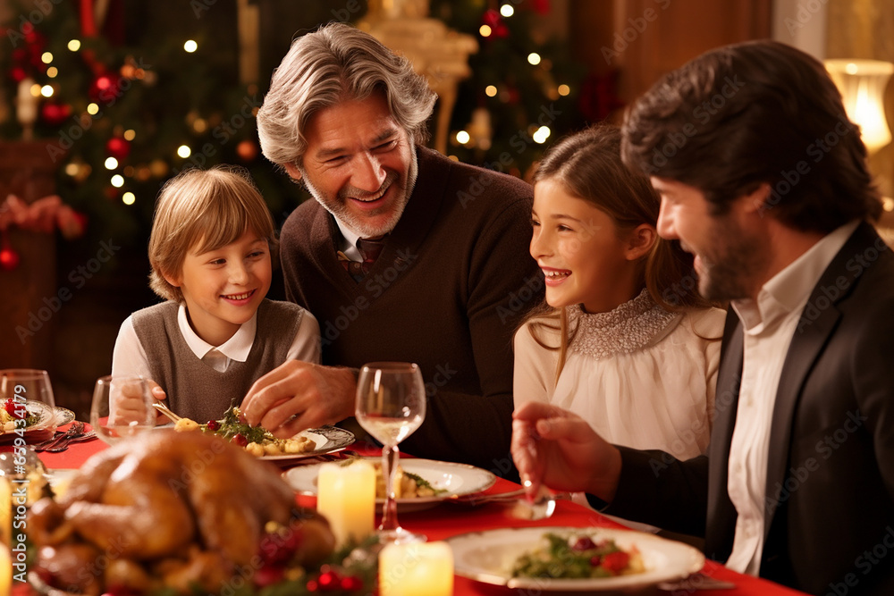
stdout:
{"type": "Polygon", "coordinates": [[[144,377],[99,377],[93,390],[90,425],[97,437],[111,445],[156,425],[154,401],[152,388],[144,377]]]}

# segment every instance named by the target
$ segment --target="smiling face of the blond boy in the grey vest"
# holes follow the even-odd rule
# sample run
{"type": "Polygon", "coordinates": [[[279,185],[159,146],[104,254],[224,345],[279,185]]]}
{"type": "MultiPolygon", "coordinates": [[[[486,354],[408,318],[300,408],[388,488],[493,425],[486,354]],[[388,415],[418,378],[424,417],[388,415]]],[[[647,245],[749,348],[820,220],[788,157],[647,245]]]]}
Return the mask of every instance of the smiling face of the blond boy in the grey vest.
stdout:
{"type": "Polygon", "coordinates": [[[221,248],[190,250],[181,273],[165,279],[181,289],[193,331],[220,346],[255,314],[272,277],[267,239],[249,230],[221,248]]]}

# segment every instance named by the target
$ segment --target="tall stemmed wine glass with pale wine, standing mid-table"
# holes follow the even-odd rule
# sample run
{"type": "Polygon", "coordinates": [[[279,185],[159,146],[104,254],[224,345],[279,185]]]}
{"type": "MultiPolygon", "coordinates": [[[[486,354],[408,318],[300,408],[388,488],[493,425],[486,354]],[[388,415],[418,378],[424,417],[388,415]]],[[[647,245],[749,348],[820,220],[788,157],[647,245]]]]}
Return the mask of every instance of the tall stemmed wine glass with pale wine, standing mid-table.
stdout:
{"type": "Polygon", "coordinates": [[[397,521],[394,476],[400,458],[398,443],[419,428],[426,417],[426,386],[419,367],[409,362],[374,362],[363,365],[357,380],[357,422],[382,443],[382,477],[385,502],[379,541],[425,541],[397,521]]]}

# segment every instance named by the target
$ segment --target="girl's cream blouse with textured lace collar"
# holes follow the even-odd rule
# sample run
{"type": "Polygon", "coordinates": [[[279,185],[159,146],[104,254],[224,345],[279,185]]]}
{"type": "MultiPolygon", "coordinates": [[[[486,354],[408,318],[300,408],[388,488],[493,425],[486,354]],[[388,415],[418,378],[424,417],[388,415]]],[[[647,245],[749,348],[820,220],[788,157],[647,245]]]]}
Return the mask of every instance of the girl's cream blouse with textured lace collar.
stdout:
{"type": "MultiPolygon", "coordinates": [[[[578,331],[558,383],[559,353],[540,346],[528,322],[515,335],[515,405],[552,403],[607,441],[695,457],[711,434],[725,318],[718,308],[669,313],[645,290],[609,313],[569,308],[569,327],[578,331]]],[[[557,330],[536,332],[546,345],[559,345],[557,330]]]]}

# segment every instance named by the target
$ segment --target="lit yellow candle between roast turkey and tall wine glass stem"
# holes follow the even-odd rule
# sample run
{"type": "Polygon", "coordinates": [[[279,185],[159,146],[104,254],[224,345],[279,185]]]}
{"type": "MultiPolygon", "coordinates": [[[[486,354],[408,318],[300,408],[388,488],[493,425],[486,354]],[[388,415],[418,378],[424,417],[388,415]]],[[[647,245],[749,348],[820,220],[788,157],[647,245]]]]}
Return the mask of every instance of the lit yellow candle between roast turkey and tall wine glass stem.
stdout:
{"type": "Polygon", "coordinates": [[[335,540],[363,541],[375,524],[375,470],[366,461],[320,466],[316,510],[329,520],[335,540]]]}

